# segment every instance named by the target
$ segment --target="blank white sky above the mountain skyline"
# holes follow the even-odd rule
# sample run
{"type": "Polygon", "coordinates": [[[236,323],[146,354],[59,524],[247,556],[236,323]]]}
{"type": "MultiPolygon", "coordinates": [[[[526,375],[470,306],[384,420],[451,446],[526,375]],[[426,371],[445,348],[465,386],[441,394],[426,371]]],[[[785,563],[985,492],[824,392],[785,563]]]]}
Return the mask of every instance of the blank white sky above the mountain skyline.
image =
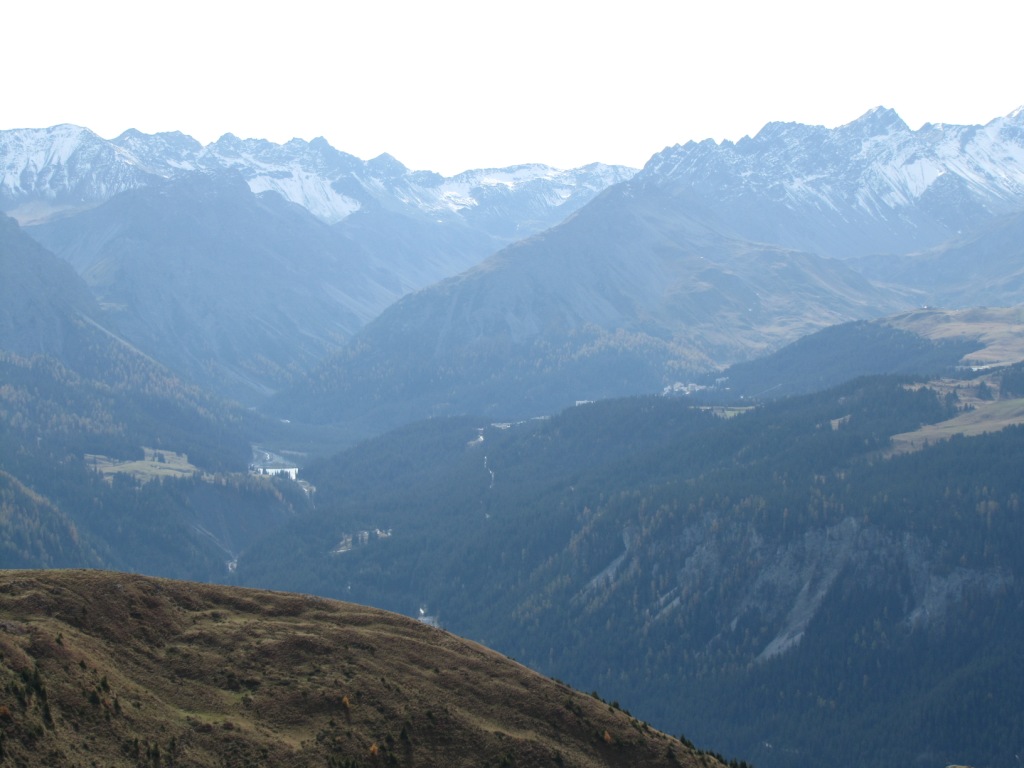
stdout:
{"type": "Polygon", "coordinates": [[[324,136],[446,175],[1024,104],[1019,0],[51,0],[2,25],[0,128],[324,136]]]}

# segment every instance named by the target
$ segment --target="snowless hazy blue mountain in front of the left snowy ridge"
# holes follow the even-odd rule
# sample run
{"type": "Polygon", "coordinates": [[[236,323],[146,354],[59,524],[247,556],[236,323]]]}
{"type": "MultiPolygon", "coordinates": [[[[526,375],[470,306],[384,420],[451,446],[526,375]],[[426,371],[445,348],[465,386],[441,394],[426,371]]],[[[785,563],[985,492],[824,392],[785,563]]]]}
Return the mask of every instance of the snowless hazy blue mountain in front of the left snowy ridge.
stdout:
{"type": "Polygon", "coordinates": [[[237,175],[156,182],[33,234],[134,345],[242,400],[318,360],[394,297],[327,224],[237,175]]]}

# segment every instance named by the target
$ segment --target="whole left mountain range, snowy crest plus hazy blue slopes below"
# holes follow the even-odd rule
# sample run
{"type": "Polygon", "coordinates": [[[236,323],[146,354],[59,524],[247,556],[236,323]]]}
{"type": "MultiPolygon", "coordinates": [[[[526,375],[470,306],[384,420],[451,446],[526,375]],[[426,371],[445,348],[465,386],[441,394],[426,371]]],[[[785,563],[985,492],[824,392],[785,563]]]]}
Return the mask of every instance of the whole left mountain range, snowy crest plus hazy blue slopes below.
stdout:
{"type": "Polygon", "coordinates": [[[86,279],[106,323],[190,381],[255,403],[402,295],[632,175],[594,164],[445,179],[324,139],[75,126],[0,132],[0,209],[86,279]]]}

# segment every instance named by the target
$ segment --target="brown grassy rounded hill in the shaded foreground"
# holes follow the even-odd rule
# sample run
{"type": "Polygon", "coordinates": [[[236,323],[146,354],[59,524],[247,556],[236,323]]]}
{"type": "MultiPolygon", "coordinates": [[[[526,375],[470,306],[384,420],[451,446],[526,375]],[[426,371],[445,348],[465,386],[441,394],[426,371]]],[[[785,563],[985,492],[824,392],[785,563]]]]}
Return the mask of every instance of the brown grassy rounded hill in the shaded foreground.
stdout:
{"type": "Polygon", "coordinates": [[[0,765],[719,762],[382,610],[127,573],[6,570],[0,765]]]}

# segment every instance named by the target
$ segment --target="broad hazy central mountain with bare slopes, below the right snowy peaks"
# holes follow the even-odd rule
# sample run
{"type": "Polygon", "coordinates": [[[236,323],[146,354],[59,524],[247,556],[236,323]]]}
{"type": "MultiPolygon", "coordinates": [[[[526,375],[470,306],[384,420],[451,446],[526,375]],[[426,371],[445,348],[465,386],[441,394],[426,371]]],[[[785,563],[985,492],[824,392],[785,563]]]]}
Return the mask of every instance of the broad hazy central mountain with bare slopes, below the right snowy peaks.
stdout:
{"type": "Polygon", "coordinates": [[[839,260],[724,236],[677,206],[665,187],[608,189],[559,226],[397,302],[274,412],[383,424],[550,413],[659,391],[908,304],[907,292],[839,260]]]}

